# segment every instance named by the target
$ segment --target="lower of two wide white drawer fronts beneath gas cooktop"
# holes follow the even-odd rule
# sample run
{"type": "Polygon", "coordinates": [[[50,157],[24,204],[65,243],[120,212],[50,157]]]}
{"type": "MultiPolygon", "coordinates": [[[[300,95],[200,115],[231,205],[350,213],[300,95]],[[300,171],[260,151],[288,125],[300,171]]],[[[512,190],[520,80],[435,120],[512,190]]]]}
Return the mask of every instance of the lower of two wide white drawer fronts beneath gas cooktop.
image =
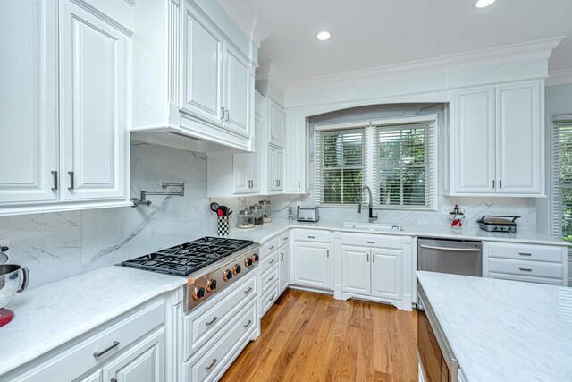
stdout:
{"type": "Polygon", "coordinates": [[[185,364],[187,370],[185,380],[214,380],[219,371],[222,371],[228,358],[231,357],[232,350],[244,342],[249,335],[252,335],[252,329],[257,326],[256,316],[256,304],[251,304],[245,312],[240,312],[240,318],[231,323],[221,338],[214,341],[212,346],[206,349],[206,352],[199,354],[198,357],[185,364]]]}

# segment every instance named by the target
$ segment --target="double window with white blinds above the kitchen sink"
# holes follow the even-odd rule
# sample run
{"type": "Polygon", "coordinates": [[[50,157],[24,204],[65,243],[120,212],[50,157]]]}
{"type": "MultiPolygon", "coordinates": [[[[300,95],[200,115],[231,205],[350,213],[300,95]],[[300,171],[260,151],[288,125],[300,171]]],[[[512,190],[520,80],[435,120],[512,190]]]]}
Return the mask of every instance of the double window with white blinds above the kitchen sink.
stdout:
{"type": "Polygon", "coordinates": [[[315,204],[433,209],[435,119],[418,116],[315,127],[315,204]],[[364,202],[367,202],[364,195],[364,202]]]}

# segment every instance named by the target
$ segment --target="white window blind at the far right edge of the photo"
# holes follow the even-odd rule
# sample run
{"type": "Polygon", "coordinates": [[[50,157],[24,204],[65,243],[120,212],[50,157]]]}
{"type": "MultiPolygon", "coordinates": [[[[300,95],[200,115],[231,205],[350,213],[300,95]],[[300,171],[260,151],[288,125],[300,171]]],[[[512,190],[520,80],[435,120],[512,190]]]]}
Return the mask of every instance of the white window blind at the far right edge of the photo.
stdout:
{"type": "Polygon", "coordinates": [[[552,233],[572,242],[572,115],[552,121],[552,233]]]}

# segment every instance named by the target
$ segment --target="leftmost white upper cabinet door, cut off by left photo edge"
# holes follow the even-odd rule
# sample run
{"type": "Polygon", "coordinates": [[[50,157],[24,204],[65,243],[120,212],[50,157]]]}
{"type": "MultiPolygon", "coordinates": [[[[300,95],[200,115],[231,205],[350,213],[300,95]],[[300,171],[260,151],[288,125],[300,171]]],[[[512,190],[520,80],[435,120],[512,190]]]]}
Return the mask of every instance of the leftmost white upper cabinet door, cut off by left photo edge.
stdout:
{"type": "Polygon", "coordinates": [[[0,204],[55,201],[57,2],[0,2],[0,204]]]}

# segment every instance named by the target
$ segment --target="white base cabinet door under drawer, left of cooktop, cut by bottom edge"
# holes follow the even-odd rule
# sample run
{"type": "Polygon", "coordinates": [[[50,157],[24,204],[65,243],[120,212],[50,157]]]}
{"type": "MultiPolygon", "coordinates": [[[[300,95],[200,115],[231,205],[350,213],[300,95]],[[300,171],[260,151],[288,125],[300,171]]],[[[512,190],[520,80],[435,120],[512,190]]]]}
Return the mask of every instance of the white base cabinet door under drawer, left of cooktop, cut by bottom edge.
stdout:
{"type": "Polygon", "coordinates": [[[165,378],[164,328],[115,357],[104,369],[104,380],[161,382],[165,378]],[[114,379],[112,379],[114,378],[114,379]]]}

